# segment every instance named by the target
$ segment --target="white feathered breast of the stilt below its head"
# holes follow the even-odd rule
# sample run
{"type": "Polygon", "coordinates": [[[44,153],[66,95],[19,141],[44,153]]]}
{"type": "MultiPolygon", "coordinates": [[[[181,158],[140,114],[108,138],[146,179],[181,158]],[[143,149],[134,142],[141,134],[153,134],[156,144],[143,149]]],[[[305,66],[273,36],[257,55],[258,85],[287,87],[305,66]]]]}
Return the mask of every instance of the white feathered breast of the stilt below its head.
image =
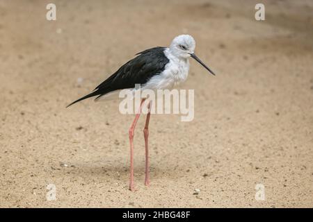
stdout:
{"type": "Polygon", "coordinates": [[[188,59],[178,59],[170,54],[169,49],[164,51],[168,60],[164,71],[153,76],[143,87],[145,89],[170,89],[175,85],[184,82],[188,77],[188,59]]]}

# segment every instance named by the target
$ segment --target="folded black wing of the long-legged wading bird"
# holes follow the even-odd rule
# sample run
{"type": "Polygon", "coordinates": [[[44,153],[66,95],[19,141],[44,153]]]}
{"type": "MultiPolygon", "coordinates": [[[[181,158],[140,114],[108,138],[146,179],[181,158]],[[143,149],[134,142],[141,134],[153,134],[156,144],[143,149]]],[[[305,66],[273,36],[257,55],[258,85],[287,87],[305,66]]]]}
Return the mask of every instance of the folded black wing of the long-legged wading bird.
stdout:
{"type": "MultiPolygon", "coordinates": [[[[135,58],[122,65],[109,78],[98,85],[90,94],[70,103],[73,105],[93,96],[104,96],[118,89],[134,88],[135,84],[144,85],[152,76],[161,74],[169,60],[164,54],[165,47],[154,47],[137,53],[135,58]]],[[[97,98],[98,98],[97,97],[97,98]]],[[[69,107],[70,105],[67,105],[69,107]]]]}

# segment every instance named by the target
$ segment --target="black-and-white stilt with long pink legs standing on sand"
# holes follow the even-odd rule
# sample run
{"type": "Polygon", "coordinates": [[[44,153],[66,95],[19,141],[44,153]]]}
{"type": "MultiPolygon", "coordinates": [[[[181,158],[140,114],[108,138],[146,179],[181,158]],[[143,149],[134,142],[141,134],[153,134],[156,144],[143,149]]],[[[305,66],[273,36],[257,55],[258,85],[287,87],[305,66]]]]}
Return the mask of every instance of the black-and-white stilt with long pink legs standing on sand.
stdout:
{"type": "MultiPolygon", "coordinates": [[[[88,99],[97,96],[95,101],[102,97],[121,89],[135,89],[139,84],[142,89],[171,89],[179,83],[183,83],[188,77],[189,58],[193,58],[202,65],[209,73],[215,76],[214,71],[209,69],[200,58],[195,56],[195,40],[191,35],[178,35],[170,46],[156,46],[137,53],[135,58],[122,65],[109,78],[106,78],[95,89],[86,96],[77,99],[67,105],[67,108],[88,99]]],[[[141,108],[145,99],[141,100],[141,106],[136,113],[134,121],[129,128],[129,146],[130,146],[130,170],[129,170],[129,189],[134,191],[134,130],[136,123],[141,115],[141,108]]],[[[148,108],[150,103],[148,104],[148,108]]],[[[145,185],[150,185],[149,175],[149,122],[150,110],[147,112],[145,127],[143,129],[145,139],[145,185]]]]}

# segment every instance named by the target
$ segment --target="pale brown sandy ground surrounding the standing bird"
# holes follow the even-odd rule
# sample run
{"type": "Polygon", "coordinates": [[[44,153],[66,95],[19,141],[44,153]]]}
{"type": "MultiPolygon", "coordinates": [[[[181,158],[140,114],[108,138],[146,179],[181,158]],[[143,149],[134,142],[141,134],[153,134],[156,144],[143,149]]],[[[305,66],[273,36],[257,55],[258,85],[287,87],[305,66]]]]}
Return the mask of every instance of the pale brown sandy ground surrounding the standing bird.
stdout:
{"type": "Polygon", "coordinates": [[[1,207],[313,207],[312,1],[263,1],[264,22],[248,0],[54,1],[55,22],[49,2],[0,1],[1,207]],[[131,192],[134,116],[65,105],[181,33],[218,75],[191,61],[195,119],[152,116],[150,187],[138,121],[131,192]]]}

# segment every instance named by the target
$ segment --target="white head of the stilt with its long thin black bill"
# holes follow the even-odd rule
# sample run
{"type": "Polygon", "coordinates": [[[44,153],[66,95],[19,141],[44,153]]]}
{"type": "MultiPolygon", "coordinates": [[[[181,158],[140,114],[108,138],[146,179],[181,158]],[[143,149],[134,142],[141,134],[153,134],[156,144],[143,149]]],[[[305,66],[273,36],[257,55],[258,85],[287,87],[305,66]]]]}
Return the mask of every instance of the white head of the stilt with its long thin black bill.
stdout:
{"type": "Polygon", "coordinates": [[[178,35],[172,40],[170,44],[170,53],[177,58],[193,58],[197,62],[199,62],[205,69],[207,69],[211,74],[214,74],[209,67],[204,65],[204,63],[195,56],[195,40],[191,35],[178,35]]]}

